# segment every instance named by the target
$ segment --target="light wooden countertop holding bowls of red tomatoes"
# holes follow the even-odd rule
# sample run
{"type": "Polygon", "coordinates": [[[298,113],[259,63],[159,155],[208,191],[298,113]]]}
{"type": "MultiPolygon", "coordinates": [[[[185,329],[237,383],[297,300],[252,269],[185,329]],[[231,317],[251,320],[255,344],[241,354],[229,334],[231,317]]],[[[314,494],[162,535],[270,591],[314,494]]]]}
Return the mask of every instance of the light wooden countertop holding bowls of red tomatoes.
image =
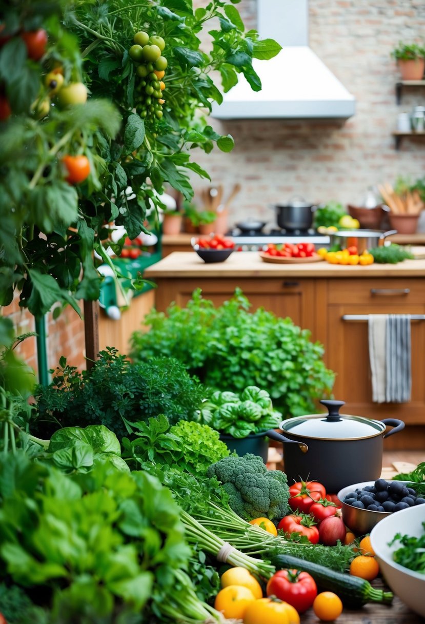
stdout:
{"type": "Polygon", "coordinates": [[[257,251],[235,251],[224,262],[205,263],[194,251],[174,251],[143,273],[143,277],[424,277],[425,260],[404,260],[396,265],[369,266],[331,265],[326,261],[302,264],[273,264],[265,262],[257,251]]]}

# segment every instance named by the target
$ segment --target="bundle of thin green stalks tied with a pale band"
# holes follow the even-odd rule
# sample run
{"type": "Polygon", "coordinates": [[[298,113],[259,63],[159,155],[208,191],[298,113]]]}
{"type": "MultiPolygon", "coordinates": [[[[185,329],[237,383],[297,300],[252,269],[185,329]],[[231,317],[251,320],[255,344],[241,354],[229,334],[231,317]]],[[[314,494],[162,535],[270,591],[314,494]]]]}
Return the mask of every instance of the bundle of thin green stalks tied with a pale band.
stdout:
{"type": "MultiPolygon", "coordinates": [[[[199,548],[214,555],[214,557],[217,557],[219,553],[226,550],[225,540],[217,537],[216,534],[212,533],[209,529],[204,527],[203,524],[198,522],[198,520],[194,519],[183,510],[181,512],[181,519],[184,523],[184,532],[188,542],[197,544],[199,548]]],[[[266,548],[264,548],[264,550],[266,550],[266,548]]],[[[270,578],[275,573],[275,567],[269,562],[251,557],[247,555],[247,553],[241,552],[236,548],[229,548],[223,560],[231,565],[246,568],[249,572],[260,578],[270,578]]]]}

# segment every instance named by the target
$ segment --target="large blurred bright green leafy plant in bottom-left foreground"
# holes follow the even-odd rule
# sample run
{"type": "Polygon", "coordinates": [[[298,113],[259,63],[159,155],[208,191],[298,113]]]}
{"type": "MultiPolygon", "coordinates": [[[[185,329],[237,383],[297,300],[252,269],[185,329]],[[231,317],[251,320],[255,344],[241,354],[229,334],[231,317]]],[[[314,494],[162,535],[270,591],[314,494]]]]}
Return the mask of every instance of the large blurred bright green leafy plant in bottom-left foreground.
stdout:
{"type": "Polygon", "coordinates": [[[37,590],[54,624],[140,622],[190,554],[170,492],[143,472],[70,477],[1,457],[0,519],[2,577],[37,590]]]}

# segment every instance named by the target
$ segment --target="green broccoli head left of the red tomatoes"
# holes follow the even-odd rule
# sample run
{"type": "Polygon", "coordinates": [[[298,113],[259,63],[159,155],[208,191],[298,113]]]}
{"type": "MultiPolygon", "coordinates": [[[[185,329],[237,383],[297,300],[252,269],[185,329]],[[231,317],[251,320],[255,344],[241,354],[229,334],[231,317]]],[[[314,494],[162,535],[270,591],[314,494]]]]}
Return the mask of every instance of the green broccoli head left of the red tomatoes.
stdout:
{"type": "Polygon", "coordinates": [[[229,505],[244,520],[265,516],[270,520],[287,514],[289,487],[284,472],[267,470],[261,457],[224,457],[208,469],[229,495],[229,505]]]}

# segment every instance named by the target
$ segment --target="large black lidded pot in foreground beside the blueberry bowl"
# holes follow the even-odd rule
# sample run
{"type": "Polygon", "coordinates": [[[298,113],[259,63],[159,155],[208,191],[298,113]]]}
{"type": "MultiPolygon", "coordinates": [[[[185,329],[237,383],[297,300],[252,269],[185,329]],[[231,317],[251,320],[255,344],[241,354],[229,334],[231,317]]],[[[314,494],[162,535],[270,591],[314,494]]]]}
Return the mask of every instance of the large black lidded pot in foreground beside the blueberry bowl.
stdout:
{"type": "Polygon", "coordinates": [[[375,421],[340,414],[344,401],[320,401],[328,414],[308,414],[282,421],[285,436],[270,429],[267,436],[284,443],[288,483],[317,480],[328,492],[346,485],[379,479],[383,439],[404,429],[396,418],[375,421]],[[385,427],[394,427],[384,433],[385,427]]]}

